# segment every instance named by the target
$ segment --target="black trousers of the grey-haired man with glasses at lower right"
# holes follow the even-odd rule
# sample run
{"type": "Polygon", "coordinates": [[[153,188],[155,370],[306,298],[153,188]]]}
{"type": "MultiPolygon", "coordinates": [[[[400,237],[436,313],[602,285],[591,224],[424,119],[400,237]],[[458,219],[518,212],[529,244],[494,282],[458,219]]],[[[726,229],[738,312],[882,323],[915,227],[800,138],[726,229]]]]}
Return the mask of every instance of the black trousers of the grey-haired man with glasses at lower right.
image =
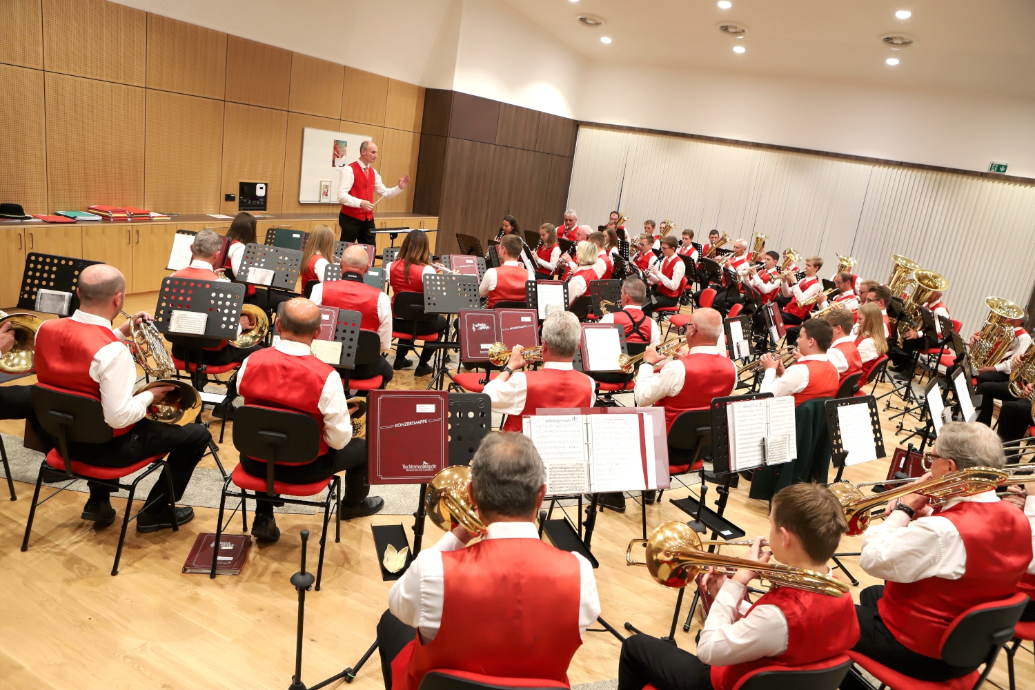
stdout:
{"type": "MultiPolygon", "coordinates": [[[[859,603],[855,613],[859,618],[859,641],[854,649],[867,657],[879,661],[888,668],[920,681],[939,683],[960,676],[966,676],[977,666],[953,666],[941,659],[924,656],[907,649],[896,640],[877,612],[877,602],[884,595],[883,584],[867,587],[859,594],[859,603]]],[[[865,688],[852,673],[845,677],[840,687],[842,690],[865,688]]]]}

